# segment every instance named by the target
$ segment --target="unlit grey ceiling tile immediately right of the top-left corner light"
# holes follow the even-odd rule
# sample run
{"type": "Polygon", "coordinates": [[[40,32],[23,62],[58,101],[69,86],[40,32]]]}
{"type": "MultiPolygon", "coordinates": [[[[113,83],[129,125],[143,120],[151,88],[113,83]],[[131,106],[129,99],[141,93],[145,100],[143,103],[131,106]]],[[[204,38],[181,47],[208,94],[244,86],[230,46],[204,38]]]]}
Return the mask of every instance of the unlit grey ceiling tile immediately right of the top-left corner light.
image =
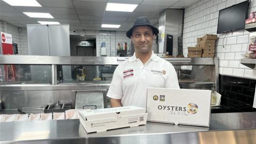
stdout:
{"type": "Polygon", "coordinates": [[[45,7],[74,8],[72,1],[68,0],[37,0],[37,2],[45,7]]]}

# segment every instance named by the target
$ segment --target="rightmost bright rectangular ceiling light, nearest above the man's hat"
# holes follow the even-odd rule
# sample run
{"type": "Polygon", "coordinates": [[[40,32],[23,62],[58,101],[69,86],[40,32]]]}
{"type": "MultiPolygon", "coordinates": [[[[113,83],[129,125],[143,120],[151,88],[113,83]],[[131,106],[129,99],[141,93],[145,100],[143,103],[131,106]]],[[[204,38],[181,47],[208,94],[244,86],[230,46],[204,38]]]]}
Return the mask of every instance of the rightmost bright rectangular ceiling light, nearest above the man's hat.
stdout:
{"type": "Polygon", "coordinates": [[[108,3],[106,11],[133,12],[137,6],[138,4],[108,3]]]}

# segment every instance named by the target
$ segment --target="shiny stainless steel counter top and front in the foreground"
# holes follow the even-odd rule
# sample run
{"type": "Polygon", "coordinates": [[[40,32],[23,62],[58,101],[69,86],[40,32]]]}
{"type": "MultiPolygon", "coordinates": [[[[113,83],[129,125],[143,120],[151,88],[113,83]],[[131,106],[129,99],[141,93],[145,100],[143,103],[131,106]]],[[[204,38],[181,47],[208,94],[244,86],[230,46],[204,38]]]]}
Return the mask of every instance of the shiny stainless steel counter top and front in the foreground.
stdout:
{"type": "Polygon", "coordinates": [[[89,134],[78,119],[0,123],[0,143],[256,143],[255,138],[256,112],[211,114],[210,127],[148,122],[89,134]]]}

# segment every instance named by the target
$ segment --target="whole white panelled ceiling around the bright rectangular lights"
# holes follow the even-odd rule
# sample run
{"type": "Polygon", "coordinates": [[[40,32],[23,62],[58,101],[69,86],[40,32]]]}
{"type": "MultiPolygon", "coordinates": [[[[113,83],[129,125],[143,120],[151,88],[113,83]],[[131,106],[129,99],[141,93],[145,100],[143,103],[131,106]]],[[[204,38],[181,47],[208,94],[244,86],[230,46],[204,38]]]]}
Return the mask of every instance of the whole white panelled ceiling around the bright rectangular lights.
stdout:
{"type": "MultiPolygon", "coordinates": [[[[26,1],[26,0],[20,0],[26,1]]],[[[184,9],[199,0],[37,0],[43,7],[11,6],[0,0],[0,20],[13,26],[26,27],[37,21],[59,21],[70,30],[128,30],[135,18],[146,16],[157,25],[159,12],[164,9],[184,9]],[[108,2],[138,4],[133,12],[105,11],[108,2]],[[29,18],[22,12],[47,12],[54,19],[29,18]],[[118,29],[101,28],[101,24],[121,25],[118,29]]]]}

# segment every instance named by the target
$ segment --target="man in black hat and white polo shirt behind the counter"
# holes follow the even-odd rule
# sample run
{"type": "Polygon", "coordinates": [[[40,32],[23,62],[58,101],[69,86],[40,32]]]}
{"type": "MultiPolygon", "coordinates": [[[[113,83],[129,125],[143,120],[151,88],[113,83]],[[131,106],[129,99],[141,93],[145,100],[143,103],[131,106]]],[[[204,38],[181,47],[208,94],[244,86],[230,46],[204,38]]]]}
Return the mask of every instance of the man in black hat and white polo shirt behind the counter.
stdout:
{"type": "Polygon", "coordinates": [[[107,97],[111,107],[138,106],[146,108],[147,88],[179,89],[178,77],[170,62],[152,51],[158,29],[147,17],[139,17],[126,36],[132,39],[135,53],[117,66],[107,97]]]}

